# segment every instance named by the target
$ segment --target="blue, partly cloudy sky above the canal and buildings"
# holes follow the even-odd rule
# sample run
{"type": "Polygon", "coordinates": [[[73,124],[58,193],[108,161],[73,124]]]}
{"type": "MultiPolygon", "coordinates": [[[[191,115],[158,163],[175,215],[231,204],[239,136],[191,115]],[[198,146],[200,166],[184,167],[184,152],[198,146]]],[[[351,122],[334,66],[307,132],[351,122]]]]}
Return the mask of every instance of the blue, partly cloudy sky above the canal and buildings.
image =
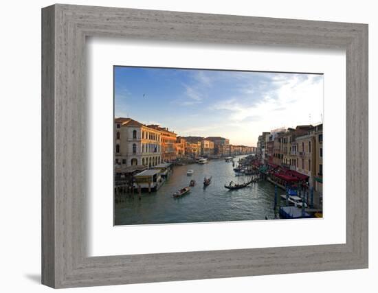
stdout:
{"type": "Polygon", "coordinates": [[[115,67],[114,98],[115,117],[256,146],[263,131],[322,122],[323,75],[115,67]]]}

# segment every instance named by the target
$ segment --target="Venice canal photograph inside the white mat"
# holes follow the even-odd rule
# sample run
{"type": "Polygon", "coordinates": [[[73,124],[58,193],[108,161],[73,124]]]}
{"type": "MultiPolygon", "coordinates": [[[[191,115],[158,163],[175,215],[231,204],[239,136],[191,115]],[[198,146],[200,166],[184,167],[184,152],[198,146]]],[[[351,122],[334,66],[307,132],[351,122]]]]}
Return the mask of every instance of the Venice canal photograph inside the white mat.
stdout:
{"type": "Polygon", "coordinates": [[[113,66],[113,224],[323,218],[323,82],[113,66]]]}

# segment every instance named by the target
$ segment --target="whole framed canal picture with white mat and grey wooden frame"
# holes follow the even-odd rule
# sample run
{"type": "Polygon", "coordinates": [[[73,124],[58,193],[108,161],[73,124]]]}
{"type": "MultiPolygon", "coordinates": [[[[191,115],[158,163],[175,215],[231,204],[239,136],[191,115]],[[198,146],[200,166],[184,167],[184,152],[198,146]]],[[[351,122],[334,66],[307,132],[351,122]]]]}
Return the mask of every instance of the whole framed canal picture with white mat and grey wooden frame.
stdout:
{"type": "Polygon", "coordinates": [[[43,284],[368,267],[368,25],[58,4],[42,29],[43,284]]]}

